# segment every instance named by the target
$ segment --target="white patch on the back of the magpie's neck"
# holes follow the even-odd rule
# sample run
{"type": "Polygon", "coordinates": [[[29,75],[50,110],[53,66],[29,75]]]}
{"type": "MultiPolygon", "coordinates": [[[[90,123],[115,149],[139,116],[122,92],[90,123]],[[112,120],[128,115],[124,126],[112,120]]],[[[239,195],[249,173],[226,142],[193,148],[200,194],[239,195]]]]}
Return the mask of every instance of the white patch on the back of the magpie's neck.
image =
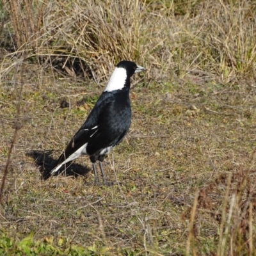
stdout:
{"type": "Polygon", "coordinates": [[[126,78],[127,74],[125,68],[116,67],[111,77],[109,78],[107,87],[104,92],[121,90],[122,88],[124,88],[126,78]]]}

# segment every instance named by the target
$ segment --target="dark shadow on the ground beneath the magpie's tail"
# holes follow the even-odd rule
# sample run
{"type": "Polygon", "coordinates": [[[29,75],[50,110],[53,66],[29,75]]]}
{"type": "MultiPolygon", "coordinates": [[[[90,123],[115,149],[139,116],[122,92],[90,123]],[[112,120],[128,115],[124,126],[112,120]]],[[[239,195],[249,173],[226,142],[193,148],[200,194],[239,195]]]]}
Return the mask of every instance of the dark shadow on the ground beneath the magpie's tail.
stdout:
{"type": "MultiPolygon", "coordinates": [[[[48,179],[50,177],[49,173],[57,161],[51,156],[53,152],[54,150],[30,150],[26,153],[27,156],[34,159],[35,164],[38,166],[38,170],[42,175],[42,179],[48,179]]],[[[90,171],[90,168],[87,166],[70,162],[67,164],[66,168],[65,166],[60,168],[56,175],[61,174],[65,176],[77,177],[79,175],[85,176],[90,171]]]]}

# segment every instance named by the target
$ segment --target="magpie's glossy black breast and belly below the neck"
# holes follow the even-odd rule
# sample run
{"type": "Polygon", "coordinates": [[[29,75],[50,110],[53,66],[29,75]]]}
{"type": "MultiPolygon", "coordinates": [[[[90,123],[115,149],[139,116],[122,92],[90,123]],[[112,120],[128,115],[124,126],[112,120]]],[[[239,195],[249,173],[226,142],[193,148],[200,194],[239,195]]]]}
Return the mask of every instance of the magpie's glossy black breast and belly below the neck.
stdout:
{"type": "Polygon", "coordinates": [[[97,155],[104,148],[115,147],[122,141],[131,125],[129,90],[104,92],[101,97],[104,100],[95,108],[95,115],[90,116],[97,119],[93,122],[98,130],[88,141],[86,152],[89,155],[97,155]]]}

